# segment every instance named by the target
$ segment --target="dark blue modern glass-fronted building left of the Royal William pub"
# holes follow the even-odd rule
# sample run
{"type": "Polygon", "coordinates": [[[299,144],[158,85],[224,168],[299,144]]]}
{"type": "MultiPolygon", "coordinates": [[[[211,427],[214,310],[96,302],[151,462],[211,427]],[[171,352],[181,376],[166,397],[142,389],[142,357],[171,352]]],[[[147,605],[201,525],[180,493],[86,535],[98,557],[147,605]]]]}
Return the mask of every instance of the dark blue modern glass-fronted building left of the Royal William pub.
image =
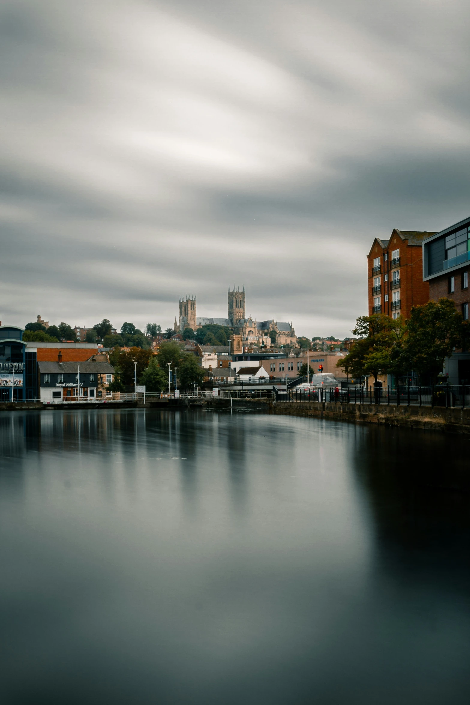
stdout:
{"type": "Polygon", "coordinates": [[[37,396],[36,350],[26,352],[23,329],[0,326],[0,401],[29,401],[37,396]]]}

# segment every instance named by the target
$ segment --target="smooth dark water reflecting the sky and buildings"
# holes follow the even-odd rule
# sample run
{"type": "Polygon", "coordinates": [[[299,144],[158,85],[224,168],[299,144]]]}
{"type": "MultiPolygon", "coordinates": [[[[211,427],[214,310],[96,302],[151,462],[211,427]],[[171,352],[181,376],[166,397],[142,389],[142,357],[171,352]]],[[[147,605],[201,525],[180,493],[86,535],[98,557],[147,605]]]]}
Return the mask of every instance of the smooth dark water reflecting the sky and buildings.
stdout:
{"type": "Polygon", "coordinates": [[[0,414],[0,701],[470,702],[470,441],[0,414]]]}

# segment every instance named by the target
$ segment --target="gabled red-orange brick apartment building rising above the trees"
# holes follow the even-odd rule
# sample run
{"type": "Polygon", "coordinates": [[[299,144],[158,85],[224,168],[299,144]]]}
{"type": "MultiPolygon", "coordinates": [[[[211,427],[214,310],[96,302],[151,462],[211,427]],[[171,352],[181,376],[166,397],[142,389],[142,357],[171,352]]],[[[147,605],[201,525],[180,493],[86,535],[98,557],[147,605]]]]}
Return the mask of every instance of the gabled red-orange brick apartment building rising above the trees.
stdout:
{"type": "Polygon", "coordinates": [[[375,238],[367,255],[369,316],[385,313],[409,317],[412,306],[429,300],[429,284],[423,281],[423,240],[435,233],[394,228],[389,240],[375,238]]]}

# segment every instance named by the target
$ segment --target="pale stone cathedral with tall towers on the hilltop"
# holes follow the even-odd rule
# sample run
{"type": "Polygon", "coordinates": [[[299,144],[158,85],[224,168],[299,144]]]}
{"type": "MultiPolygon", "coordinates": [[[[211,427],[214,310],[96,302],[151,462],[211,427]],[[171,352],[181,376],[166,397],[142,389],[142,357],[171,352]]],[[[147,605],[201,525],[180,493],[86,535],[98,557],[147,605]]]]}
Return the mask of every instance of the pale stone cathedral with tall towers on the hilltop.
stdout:
{"type": "Polygon", "coordinates": [[[286,321],[257,321],[247,317],[245,308],[245,286],[233,290],[228,287],[228,318],[201,318],[196,314],[196,295],[180,298],[180,320],[175,319],[175,331],[183,333],[186,328],[196,331],[207,325],[226,326],[233,333],[242,336],[245,345],[271,345],[276,333],[276,345],[297,345],[297,336],[292,323],[286,321]]]}

